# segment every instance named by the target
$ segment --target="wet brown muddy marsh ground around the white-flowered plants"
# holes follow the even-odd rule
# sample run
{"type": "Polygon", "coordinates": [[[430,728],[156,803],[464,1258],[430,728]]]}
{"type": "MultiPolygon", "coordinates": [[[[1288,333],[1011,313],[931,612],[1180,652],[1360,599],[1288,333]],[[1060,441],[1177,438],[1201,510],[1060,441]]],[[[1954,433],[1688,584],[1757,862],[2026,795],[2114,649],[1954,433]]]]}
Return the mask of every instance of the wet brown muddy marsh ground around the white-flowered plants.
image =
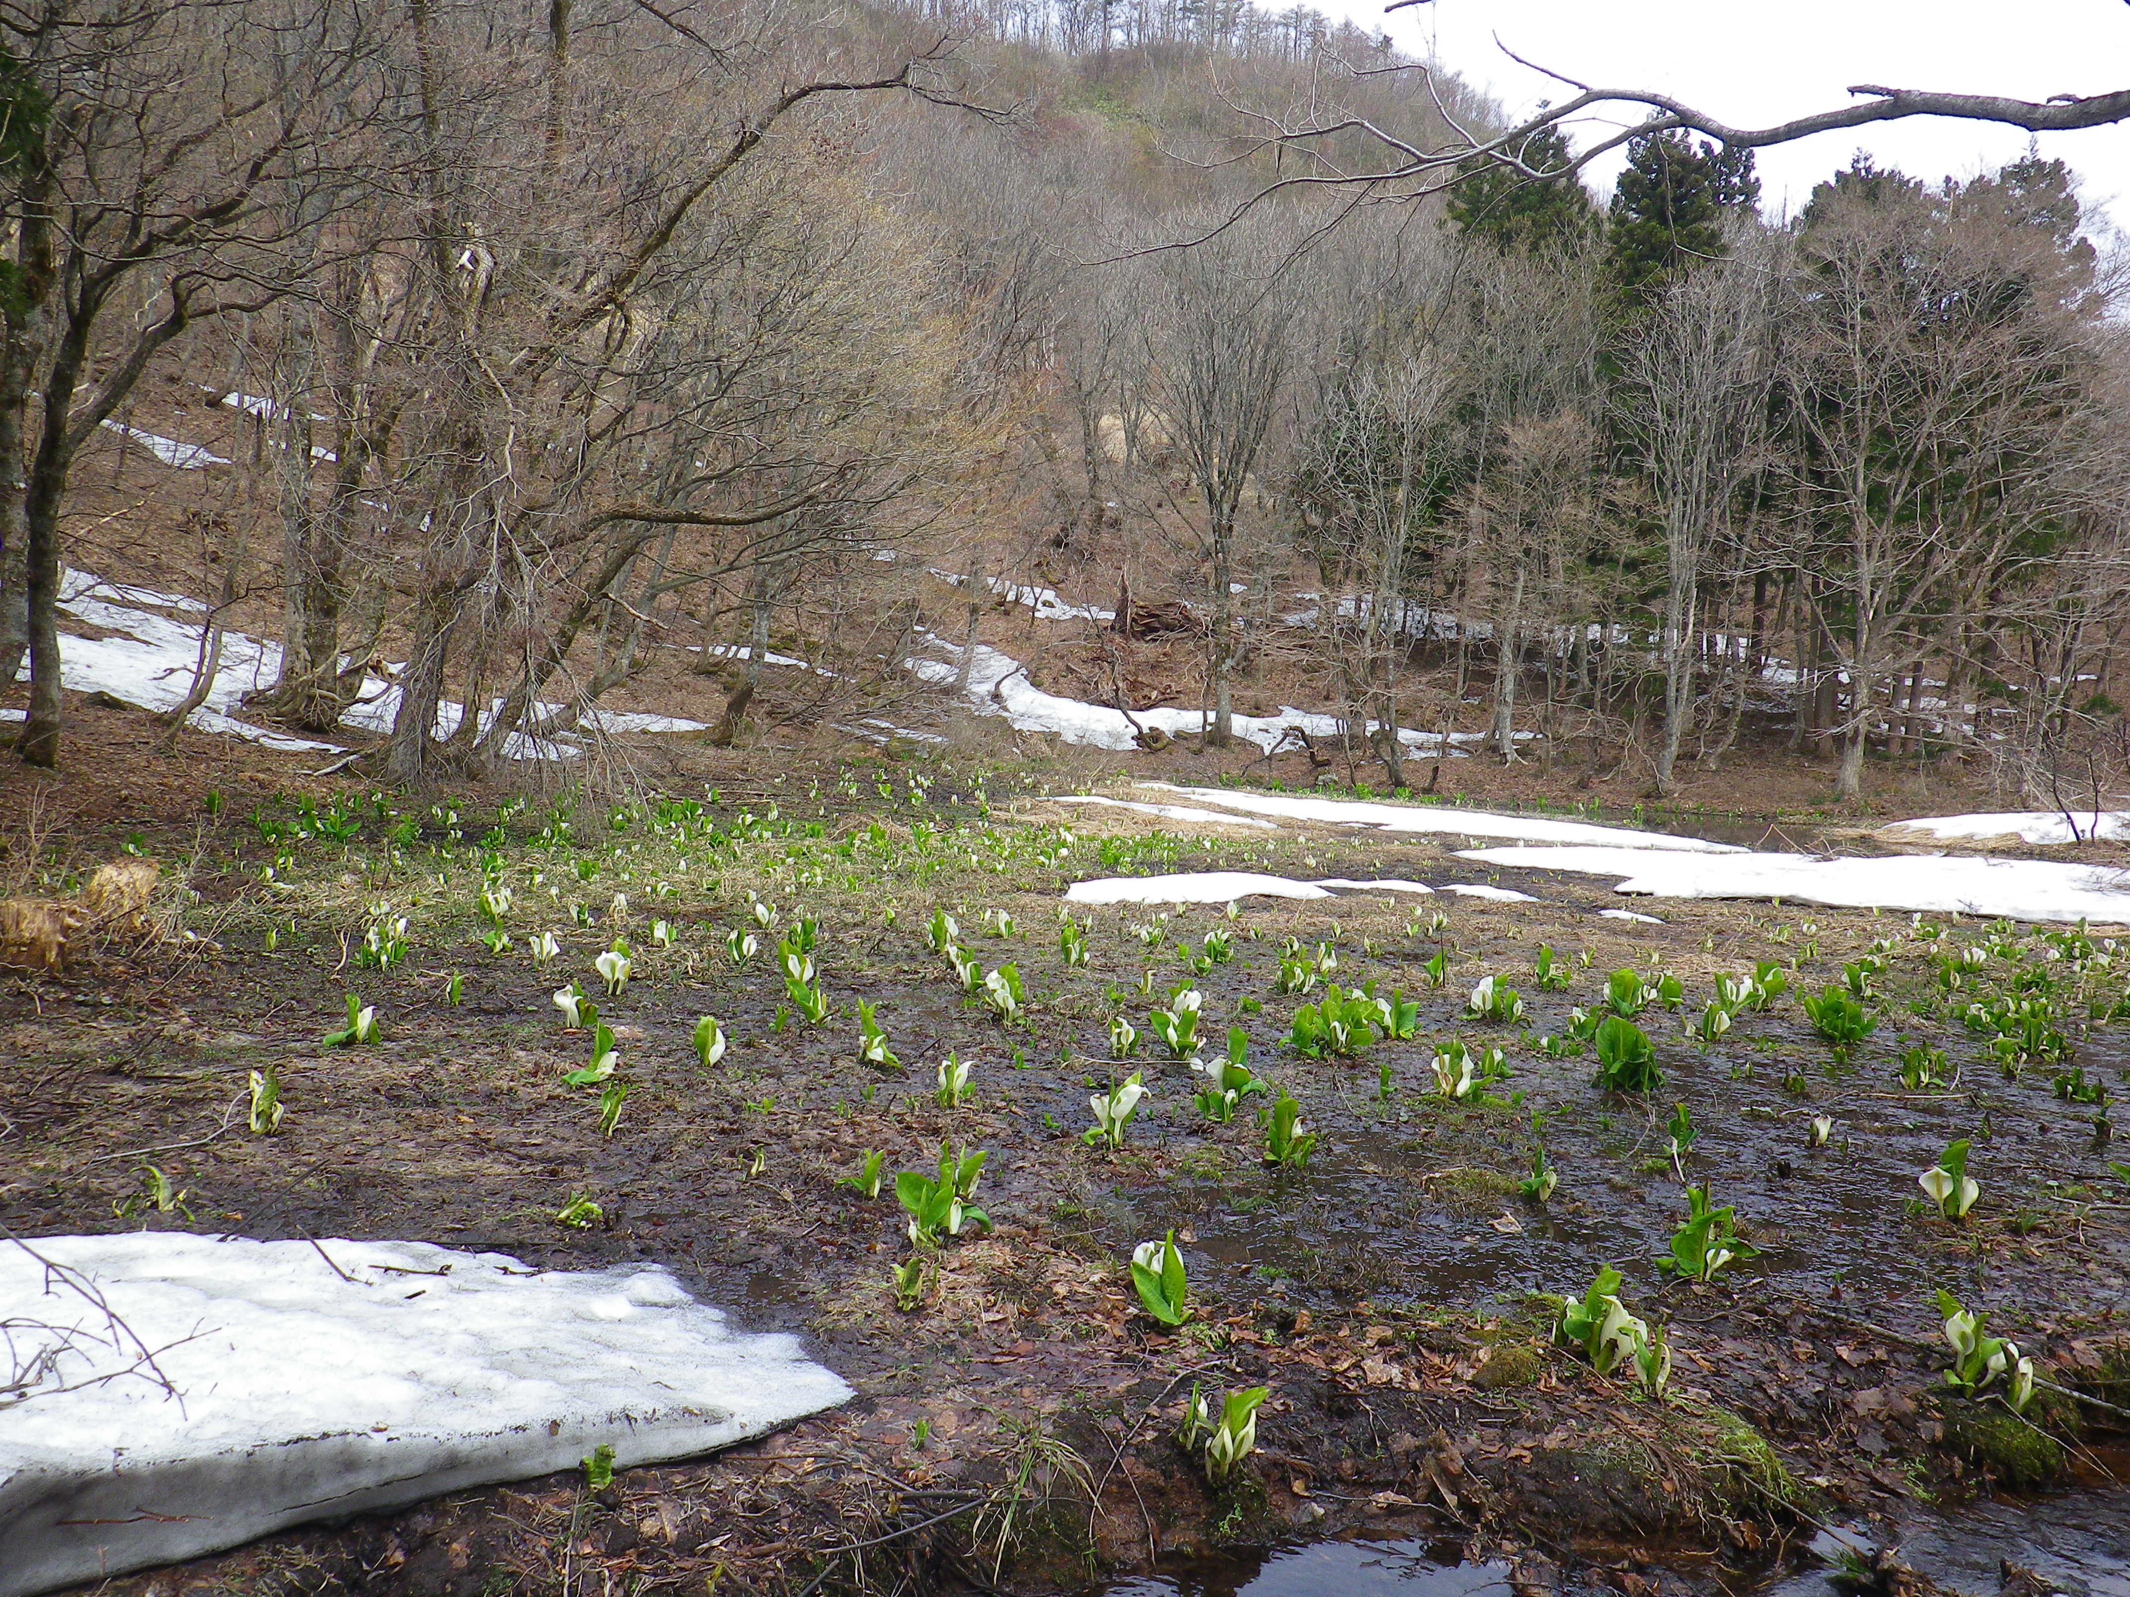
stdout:
{"type": "Polygon", "coordinates": [[[858,1390],[769,1442],[624,1471],[590,1497],[575,1478],[466,1493],[102,1591],[1059,1591],[1367,1529],[1508,1559],[1536,1588],[1640,1597],[1749,1582],[1821,1522],[2124,1473],[2130,1186],[2111,1167],[2124,1152],[2107,1101],[2060,1097],[2062,1063],[2006,1075],[1957,1007],[2051,994],[2081,1086],[2117,1094],[2130,1033],[2090,1009],[2124,997],[2130,950],[2051,945],[2036,928],[1992,941],[1936,918],[1940,943],[1906,916],[1736,903],[1634,901],[1664,920],[1638,924],[1598,913],[1621,907],[1600,884],[1482,873],[1451,858],[1455,839],[1148,835],[1131,818],[924,790],[890,767],[816,788],[775,811],[735,801],[667,824],[586,809],[567,833],[539,809],[469,805],[454,820],[351,796],[320,828],[275,803],[260,826],[232,803],[196,847],[190,830],[141,839],[175,879],[162,939],[4,979],[0,1226],[420,1237],[558,1269],[652,1258],[752,1329],[801,1333],[858,1390]],[[1233,920],[1082,909],[1088,962],[1065,962],[1067,882],[1186,869],[1493,884],[1534,901],[1246,899],[1233,920]],[[484,882],[511,888],[503,954],[479,941],[484,882]],[[775,905],[777,933],[818,922],[826,1022],[788,1011],[771,937],[741,967],[726,956],[726,933],[752,924],[750,892],[775,905]],[[360,956],[379,901],[409,916],[409,952],[388,971],[360,956]],[[933,909],[984,969],[1016,965],[1022,1024],[961,990],[927,945],[933,909]],[[986,911],[1012,931],[986,931],[986,911]],[[654,918],[675,948],[654,945],[654,918]],[[545,967],[526,954],[539,931],[562,943],[545,967]],[[1193,973],[1220,931],[1233,958],[1193,973]],[[607,1137],[596,1088],[562,1082],[588,1039],[550,994],[571,977],[596,990],[592,958],[618,933],[635,973],[601,1011],[633,1090],[607,1137]],[[1318,997],[1276,992],[1289,939],[1336,952],[1340,984],[1416,999],[1419,1035],[1344,1060],[1284,1048],[1297,1005],[1318,997]],[[1881,939],[1879,1028],[1842,1058],[1798,992],[1842,982],[1881,939]],[[1534,979],[1540,943],[1566,988],[1534,979]],[[1964,945],[1987,958],[1947,999],[1936,954],[1964,945]],[[1438,954],[1444,982],[1429,986],[1438,954]],[[1717,973],[1755,960],[1779,962],[1791,992],[1700,1048],[1685,1026],[1717,973]],[[1655,1092],[1600,1092],[1587,1052],[1538,1043],[1621,967],[1670,971],[1685,990],[1678,1014],[1640,1016],[1666,1075],[1655,1092]],[[1523,992],[1521,1024],[1463,1014],[1482,975],[1523,992]],[[1248,1103],[1203,1120],[1201,1077],[1152,1035],[1137,1058],[1112,1058],[1112,1016],[1150,1033],[1148,1011],[1186,977],[1206,1052],[1242,1026],[1250,1067],[1301,1103],[1321,1137],[1304,1169],[1265,1163],[1248,1103]],[[345,992],[377,1005],[375,1046],[320,1043],[345,992]],[[858,1060],[861,997],[901,1069],[858,1060]],[[711,1069],[690,1050],[703,1014],[733,1043],[711,1069]],[[1440,1097],[1429,1060],[1451,1037],[1504,1048],[1512,1073],[1478,1099],[1440,1097]],[[1943,1048],[1957,1082],[1904,1088],[1908,1046],[1943,1048]],[[935,1099],[950,1050],[973,1063],[961,1107],[935,1099]],[[253,1137],[243,1088],[264,1065],[288,1116],[253,1137]],[[1150,1097],[1123,1148],[1088,1148],[1091,1090],[1133,1069],[1150,1097]],[[1678,1167],[1676,1103],[1698,1129],[1678,1167]],[[1534,1114],[1559,1171],[1546,1203],[1517,1190],[1534,1114]],[[1825,1146],[1808,1146],[1815,1116],[1834,1122],[1825,1146]],[[1975,1139],[1983,1184],[1964,1222],[1917,1188],[1953,1137],[1975,1139]],[[920,1303],[899,1312],[903,1216],[841,1180],[867,1150],[890,1178],[929,1169],[941,1139],[988,1152],[976,1201],[993,1231],[946,1239],[920,1303]],[[141,1209],[149,1163],[190,1218],[141,1209]],[[1655,1263],[1687,1182],[1736,1205],[1759,1248],[1715,1284],[1655,1263]],[[558,1224],[579,1195],[603,1218],[558,1224]],[[1127,1273],[1131,1248],[1169,1229],[1195,1307],[1180,1331],[1142,1312],[1127,1273]],[[1625,1273],[1627,1307],[1668,1327],[1664,1401],[1551,1337],[1546,1295],[1580,1293],[1604,1263],[1625,1273]],[[1949,1393],[1938,1288],[2094,1401],[2043,1390],[2015,1416],[1949,1393]],[[1257,1452],[1210,1482],[1178,1444],[1189,1393],[1259,1384],[1257,1452]]]}

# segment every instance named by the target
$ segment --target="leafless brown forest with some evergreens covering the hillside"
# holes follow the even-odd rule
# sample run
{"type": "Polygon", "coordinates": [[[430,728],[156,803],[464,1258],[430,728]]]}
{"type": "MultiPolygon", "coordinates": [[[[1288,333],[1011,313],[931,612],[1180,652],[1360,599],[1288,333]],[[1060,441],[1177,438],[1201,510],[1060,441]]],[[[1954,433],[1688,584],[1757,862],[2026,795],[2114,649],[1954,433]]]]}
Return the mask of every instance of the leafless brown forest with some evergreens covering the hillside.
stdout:
{"type": "Polygon", "coordinates": [[[1655,792],[1751,739],[1842,798],[1872,758],[2049,805],[2130,767],[2121,275],[2062,162],[1859,155],[1783,217],[1749,151],[1640,136],[1600,200],[1527,177],[1570,160],[1540,130],[1355,185],[1502,119],[1233,0],[6,23],[32,764],[81,460],[207,392],[243,460],[155,537],[211,618],[275,618],[253,715],[328,730],[405,662],[388,781],[490,773],[675,639],[724,743],[771,645],[839,705],[910,692],[920,637],[978,637],[927,573],[1114,594],[1076,696],[1178,703],[1133,681],[1167,628],[1208,741],[1269,679],[1389,786],[1414,726],[1655,792]]]}

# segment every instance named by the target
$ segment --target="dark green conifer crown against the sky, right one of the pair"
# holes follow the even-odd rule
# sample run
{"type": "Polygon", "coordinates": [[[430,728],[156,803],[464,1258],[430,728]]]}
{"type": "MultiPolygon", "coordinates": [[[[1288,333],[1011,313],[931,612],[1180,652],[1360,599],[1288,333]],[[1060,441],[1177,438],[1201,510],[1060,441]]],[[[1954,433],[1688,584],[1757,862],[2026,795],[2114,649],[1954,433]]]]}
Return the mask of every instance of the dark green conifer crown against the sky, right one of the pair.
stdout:
{"type": "Polygon", "coordinates": [[[1723,253],[1723,219],[1759,200],[1753,151],[1695,143],[1683,130],[1627,143],[1606,215],[1606,262],[1632,302],[1723,253]]]}

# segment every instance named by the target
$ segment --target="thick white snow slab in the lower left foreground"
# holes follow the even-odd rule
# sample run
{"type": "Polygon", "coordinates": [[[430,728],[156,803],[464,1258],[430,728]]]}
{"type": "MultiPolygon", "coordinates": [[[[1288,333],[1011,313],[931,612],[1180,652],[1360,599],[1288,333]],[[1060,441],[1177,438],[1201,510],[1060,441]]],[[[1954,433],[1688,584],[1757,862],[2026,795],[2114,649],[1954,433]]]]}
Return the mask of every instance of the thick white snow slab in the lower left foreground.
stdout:
{"type": "Polygon", "coordinates": [[[850,1397],[792,1337],[726,1329],[658,1267],[185,1233],[30,1248],[94,1280],[177,1397],[0,1244],[17,1356],[26,1320],[81,1327],[47,1382],[66,1390],[0,1422],[0,1597],[571,1469],[601,1444],[622,1465],[711,1452],[850,1397]]]}

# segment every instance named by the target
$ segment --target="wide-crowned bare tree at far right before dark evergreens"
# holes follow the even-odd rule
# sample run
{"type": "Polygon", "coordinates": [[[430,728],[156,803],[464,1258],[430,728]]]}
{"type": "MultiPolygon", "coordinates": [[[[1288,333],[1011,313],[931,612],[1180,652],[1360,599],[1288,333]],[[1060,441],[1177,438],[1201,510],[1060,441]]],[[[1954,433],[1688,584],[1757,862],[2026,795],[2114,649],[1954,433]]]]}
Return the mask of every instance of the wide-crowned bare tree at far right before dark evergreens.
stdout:
{"type": "MultiPolygon", "coordinates": [[[[1781,358],[1802,592],[1845,677],[1836,792],[1940,618],[1977,618],[2068,511],[2094,426],[2085,262],[1989,196],[1834,190],[1798,243],[1781,358]]],[[[1911,684],[1913,692],[1913,684],[1911,684]]]]}

